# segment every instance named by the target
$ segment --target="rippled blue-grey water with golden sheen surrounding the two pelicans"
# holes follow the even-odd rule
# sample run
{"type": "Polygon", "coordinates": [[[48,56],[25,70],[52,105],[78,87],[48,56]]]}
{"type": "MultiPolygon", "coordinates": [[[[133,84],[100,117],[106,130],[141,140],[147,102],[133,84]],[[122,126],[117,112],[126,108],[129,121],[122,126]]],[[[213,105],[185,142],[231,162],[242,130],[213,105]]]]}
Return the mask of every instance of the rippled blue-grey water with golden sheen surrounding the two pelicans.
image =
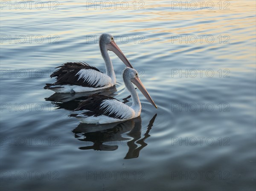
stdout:
{"type": "MultiPolygon", "coordinates": [[[[255,190],[256,4],[211,2],[1,1],[1,190],[255,190]],[[104,71],[103,32],[158,109],[139,93],[139,118],[84,125],[68,115],[86,93],[43,87],[65,62],[104,71]]],[[[110,55],[117,85],[102,94],[122,100],[110,55]]]]}

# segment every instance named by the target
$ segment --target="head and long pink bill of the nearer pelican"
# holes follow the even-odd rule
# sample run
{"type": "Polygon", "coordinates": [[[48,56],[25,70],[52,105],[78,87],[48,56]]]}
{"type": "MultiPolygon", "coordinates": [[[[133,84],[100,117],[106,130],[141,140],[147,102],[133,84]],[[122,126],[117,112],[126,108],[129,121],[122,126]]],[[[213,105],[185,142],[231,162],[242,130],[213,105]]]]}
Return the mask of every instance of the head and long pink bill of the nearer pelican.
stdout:
{"type": "MultiPolygon", "coordinates": [[[[134,85],[137,86],[137,88],[139,88],[141,93],[143,93],[145,98],[147,98],[147,100],[152,105],[154,105],[155,108],[157,108],[157,105],[154,103],[154,101],[148,94],[148,91],[146,90],[145,86],[143,86],[143,83],[140,81],[140,78],[138,77],[138,72],[134,68],[125,68],[123,71],[123,79],[124,82],[126,82],[127,79],[131,80],[131,82],[134,83],[134,85]]],[[[125,86],[127,85],[125,84],[125,86]]]]}

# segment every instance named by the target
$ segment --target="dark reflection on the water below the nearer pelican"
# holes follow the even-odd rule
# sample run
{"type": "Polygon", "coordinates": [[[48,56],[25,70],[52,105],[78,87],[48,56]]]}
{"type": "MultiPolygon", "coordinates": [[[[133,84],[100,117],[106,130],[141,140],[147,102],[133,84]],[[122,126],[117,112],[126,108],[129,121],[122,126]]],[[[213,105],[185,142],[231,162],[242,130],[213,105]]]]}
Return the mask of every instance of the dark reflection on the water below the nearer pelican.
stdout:
{"type": "Polygon", "coordinates": [[[147,145],[145,139],[150,137],[149,131],[156,117],[157,114],[149,121],[143,137],[141,136],[142,121],[140,117],[104,125],[80,123],[72,132],[78,140],[85,141],[87,144],[92,143],[92,145],[89,143],[90,145],[79,147],[81,150],[114,151],[118,148],[118,144],[126,145],[127,143],[129,149],[125,159],[132,159],[139,157],[140,151],[147,145]],[[128,133],[125,134],[126,132],[128,133]]]}

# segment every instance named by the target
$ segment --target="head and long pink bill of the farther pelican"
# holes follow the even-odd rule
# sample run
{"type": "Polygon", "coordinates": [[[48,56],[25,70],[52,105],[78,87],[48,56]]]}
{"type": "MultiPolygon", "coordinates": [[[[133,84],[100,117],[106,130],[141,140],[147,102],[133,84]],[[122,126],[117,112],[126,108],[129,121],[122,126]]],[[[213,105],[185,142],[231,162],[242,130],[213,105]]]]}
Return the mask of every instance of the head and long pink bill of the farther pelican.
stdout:
{"type": "Polygon", "coordinates": [[[111,34],[103,33],[99,37],[99,46],[102,52],[103,47],[105,47],[106,50],[113,51],[116,54],[116,56],[118,56],[127,67],[133,68],[129,60],[125,57],[120,48],[116,45],[114,38],[111,34]]]}

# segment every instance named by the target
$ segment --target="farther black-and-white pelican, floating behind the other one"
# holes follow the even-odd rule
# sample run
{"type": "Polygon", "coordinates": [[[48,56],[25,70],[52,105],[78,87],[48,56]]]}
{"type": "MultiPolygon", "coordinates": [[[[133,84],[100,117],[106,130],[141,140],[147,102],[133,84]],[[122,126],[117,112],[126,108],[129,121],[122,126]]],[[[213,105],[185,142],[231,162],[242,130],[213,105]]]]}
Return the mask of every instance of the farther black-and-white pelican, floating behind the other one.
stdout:
{"type": "Polygon", "coordinates": [[[56,82],[46,84],[44,89],[50,89],[57,93],[76,93],[84,91],[97,91],[109,88],[116,84],[116,76],[108,51],[113,51],[127,67],[133,68],[131,63],[114,42],[111,34],[104,33],[99,38],[99,48],[105,61],[106,72],[89,66],[87,63],[65,63],[50,77],[56,77],[56,82]]]}

